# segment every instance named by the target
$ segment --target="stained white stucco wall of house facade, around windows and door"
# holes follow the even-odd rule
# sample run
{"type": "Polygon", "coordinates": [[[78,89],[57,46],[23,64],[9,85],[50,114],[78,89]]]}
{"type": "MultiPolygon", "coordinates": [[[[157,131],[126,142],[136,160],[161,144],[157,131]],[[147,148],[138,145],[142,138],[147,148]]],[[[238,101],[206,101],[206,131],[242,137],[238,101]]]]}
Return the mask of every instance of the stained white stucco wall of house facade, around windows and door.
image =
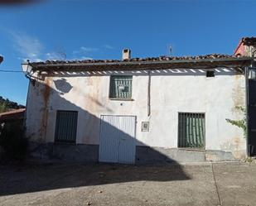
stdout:
{"type": "Polygon", "coordinates": [[[99,144],[100,115],[112,114],[137,116],[138,145],[175,148],[178,112],[205,113],[205,149],[245,155],[243,131],[225,120],[243,118],[235,107],[245,105],[244,75],[221,68],[215,69],[213,78],[206,78],[202,69],[154,71],[149,117],[147,84],[147,71],[42,76],[35,86],[29,86],[27,136],[34,141],[54,141],[56,110],[75,110],[79,112],[77,144],[99,144]],[[133,101],[109,99],[111,74],[133,74],[133,101]],[[150,122],[149,132],[141,132],[145,121],[150,122]]]}

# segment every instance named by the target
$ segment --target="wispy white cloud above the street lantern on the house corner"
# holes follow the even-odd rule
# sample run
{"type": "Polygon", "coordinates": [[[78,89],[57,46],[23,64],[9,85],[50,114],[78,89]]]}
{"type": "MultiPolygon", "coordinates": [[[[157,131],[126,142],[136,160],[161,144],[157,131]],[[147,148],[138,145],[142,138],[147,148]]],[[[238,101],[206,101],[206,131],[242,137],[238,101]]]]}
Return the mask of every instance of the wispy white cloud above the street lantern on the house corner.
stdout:
{"type": "Polygon", "coordinates": [[[22,55],[22,59],[31,61],[41,61],[41,51],[44,46],[32,36],[23,32],[8,31],[12,36],[14,48],[22,55]]]}

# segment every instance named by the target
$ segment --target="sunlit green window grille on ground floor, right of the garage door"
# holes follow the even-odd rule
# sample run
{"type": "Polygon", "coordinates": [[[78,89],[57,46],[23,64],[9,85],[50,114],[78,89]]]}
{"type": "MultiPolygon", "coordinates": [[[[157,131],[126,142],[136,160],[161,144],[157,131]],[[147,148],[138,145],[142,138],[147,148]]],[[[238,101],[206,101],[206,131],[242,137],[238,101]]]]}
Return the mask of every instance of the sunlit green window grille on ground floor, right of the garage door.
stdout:
{"type": "Polygon", "coordinates": [[[178,147],[205,147],[205,114],[179,113],[178,147]]]}

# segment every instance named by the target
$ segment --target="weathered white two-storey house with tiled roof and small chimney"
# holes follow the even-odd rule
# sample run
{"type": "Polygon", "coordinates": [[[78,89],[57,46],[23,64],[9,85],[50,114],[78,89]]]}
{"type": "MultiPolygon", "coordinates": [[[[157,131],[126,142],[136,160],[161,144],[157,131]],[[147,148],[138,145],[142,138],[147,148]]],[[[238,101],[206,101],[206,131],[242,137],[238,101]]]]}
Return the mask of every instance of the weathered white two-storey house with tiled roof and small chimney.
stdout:
{"type": "Polygon", "coordinates": [[[122,60],[27,62],[31,153],[115,163],[251,156],[255,141],[239,123],[252,65],[247,55],[141,59],[128,49],[122,60]]]}

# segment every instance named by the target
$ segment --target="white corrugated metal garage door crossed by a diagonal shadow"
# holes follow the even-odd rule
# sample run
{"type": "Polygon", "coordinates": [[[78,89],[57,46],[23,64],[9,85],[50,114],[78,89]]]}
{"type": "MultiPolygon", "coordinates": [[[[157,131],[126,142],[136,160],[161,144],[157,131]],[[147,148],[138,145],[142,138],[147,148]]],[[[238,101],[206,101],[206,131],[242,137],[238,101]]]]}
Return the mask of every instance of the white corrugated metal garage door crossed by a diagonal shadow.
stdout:
{"type": "Polygon", "coordinates": [[[135,116],[102,115],[100,124],[99,161],[134,163],[135,116]]]}

